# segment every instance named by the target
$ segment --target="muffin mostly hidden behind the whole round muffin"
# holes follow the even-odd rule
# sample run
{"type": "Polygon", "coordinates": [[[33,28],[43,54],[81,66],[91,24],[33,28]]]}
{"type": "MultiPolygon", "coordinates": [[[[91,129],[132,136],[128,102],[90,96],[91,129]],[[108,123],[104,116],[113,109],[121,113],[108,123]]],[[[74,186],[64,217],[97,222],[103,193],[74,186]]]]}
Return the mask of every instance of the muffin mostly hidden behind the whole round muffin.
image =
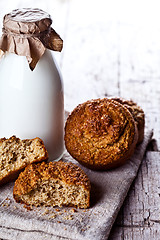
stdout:
{"type": "Polygon", "coordinates": [[[145,127],[145,114],[143,109],[132,100],[125,100],[122,98],[112,98],[112,99],[124,105],[132,114],[138,128],[137,144],[141,143],[144,139],[144,127],[145,127]]]}

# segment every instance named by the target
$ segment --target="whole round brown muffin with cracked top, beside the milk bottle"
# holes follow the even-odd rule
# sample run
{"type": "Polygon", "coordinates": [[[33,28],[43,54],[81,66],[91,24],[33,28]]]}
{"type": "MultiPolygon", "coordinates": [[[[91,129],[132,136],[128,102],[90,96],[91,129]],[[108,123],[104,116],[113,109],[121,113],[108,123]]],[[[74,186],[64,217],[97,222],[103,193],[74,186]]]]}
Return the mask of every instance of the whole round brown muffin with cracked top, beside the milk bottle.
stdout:
{"type": "Polygon", "coordinates": [[[95,170],[118,167],[133,154],[138,132],[126,107],[111,99],[79,104],[65,125],[65,145],[73,158],[95,170]]]}

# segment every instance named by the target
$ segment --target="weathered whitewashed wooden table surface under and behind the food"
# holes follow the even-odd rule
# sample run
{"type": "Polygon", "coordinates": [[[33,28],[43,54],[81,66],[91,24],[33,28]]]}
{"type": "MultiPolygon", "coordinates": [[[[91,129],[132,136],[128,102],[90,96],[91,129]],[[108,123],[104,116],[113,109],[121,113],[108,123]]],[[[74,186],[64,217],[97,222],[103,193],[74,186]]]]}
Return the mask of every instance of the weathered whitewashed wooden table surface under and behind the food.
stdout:
{"type": "Polygon", "coordinates": [[[109,239],[160,239],[158,1],[1,0],[0,18],[18,7],[49,12],[53,27],[64,40],[62,53],[55,53],[55,57],[63,74],[66,110],[107,96],[131,98],[144,109],[155,140],[109,239]]]}

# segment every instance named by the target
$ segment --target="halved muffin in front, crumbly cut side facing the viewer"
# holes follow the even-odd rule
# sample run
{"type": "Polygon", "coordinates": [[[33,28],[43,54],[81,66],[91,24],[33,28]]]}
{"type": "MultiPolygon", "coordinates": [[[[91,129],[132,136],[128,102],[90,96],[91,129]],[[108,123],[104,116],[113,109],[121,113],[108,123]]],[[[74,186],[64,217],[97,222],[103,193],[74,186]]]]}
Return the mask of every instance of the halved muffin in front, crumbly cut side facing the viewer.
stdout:
{"type": "Polygon", "coordinates": [[[13,196],[27,205],[88,208],[90,181],[73,163],[30,164],[16,180],[13,196]]]}

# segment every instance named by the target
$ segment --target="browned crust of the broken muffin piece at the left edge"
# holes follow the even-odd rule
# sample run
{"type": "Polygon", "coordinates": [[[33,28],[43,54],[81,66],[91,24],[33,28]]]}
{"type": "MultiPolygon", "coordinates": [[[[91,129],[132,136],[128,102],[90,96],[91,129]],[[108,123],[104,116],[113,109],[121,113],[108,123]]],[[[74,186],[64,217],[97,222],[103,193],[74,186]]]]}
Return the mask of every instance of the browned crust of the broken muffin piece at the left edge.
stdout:
{"type": "MultiPolygon", "coordinates": [[[[27,141],[27,140],[30,140],[30,141],[35,141],[35,140],[38,140],[39,143],[41,144],[41,147],[44,151],[44,156],[43,157],[39,157],[39,158],[36,158],[34,159],[32,162],[41,162],[41,161],[45,161],[48,159],[48,152],[47,152],[47,149],[45,148],[44,146],[44,143],[42,141],[42,139],[40,139],[39,137],[36,137],[36,138],[33,138],[33,139],[24,139],[24,140],[20,140],[20,138],[17,138],[16,136],[12,136],[10,137],[9,139],[7,138],[1,138],[0,139],[0,145],[2,145],[4,142],[6,142],[6,144],[10,144],[12,142],[18,142],[19,141],[27,141]]],[[[1,154],[3,154],[3,152],[1,151],[0,152],[0,156],[1,154]]],[[[0,161],[1,161],[1,158],[0,158],[0,161]]],[[[7,183],[7,182],[10,182],[10,181],[13,181],[15,180],[19,173],[27,166],[26,163],[22,164],[21,166],[19,166],[17,169],[14,169],[14,170],[11,170],[11,171],[8,171],[7,174],[5,176],[0,176],[0,186],[7,183]]]]}

